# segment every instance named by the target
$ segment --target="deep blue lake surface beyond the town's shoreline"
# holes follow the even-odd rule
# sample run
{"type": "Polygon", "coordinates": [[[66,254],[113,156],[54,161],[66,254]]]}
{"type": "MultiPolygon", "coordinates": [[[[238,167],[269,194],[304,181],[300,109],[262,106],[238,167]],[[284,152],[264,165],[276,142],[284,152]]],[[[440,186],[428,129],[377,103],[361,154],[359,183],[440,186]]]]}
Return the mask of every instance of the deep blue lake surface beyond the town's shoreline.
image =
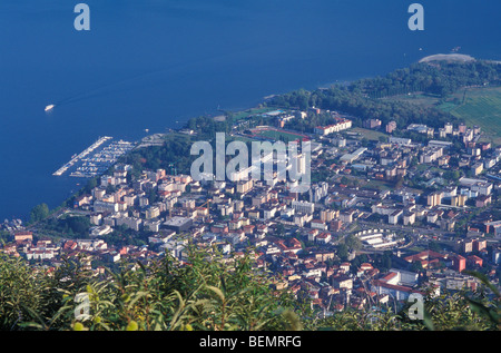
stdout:
{"type": "Polygon", "coordinates": [[[58,206],[84,182],[52,173],[99,136],[136,140],[218,106],[249,108],[454,47],[501,59],[499,0],[415,1],[420,32],[407,28],[412,2],[2,0],[0,220],[58,206]],[[73,28],[78,2],[90,31],[73,28]]]}

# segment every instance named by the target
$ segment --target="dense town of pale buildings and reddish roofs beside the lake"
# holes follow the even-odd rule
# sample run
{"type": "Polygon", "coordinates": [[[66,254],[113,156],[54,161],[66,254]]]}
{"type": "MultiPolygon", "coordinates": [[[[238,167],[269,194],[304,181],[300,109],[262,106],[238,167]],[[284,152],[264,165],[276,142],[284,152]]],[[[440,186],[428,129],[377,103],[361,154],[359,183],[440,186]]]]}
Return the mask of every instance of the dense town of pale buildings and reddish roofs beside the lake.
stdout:
{"type": "Polygon", "coordinates": [[[275,290],[307,297],[323,315],[396,307],[412,293],[475,290],[480,281],[464,269],[499,285],[501,147],[484,141],[478,126],[369,119],[354,127],[337,111],[268,109],[234,124],[230,135],[311,141],[310,190],[245,173],[194,180],[168,166],[131,177],[132,166],[117,163],[52,216],[88,219],[86,236],[55,238],[37,225],[6,222],[11,237],[0,251],[49,269],[63,257],[85,258],[96,275],[122,261],[168,255],[183,263],[188,244],[217,249],[227,262],[250,253],[256,271],[274,275],[275,290]],[[295,121],[321,114],[332,124],[294,130],[295,121]],[[267,125],[252,125],[256,115],[267,125]],[[120,233],[143,241],[110,238],[120,233]]]}

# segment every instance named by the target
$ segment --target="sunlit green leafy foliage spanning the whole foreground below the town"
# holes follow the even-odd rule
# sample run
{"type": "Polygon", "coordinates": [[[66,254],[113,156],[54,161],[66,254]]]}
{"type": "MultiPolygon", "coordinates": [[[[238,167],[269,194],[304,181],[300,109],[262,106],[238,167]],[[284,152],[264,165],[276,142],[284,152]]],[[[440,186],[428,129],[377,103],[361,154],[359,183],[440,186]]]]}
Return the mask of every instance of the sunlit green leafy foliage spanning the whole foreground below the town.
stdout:
{"type": "Polygon", "coordinates": [[[124,263],[108,277],[91,276],[85,262],[65,262],[52,273],[32,271],[0,254],[0,330],[24,331],[291,331],[291,330],[499,330],[497,288],[483,277],[480,292],[428,297],[424,321],[409,306],[374,304],[322,318],[310,300],[276,291],[249,255],[225,263],[217,253],[189,247],[176,259],[124,263]],[[209,255],[210,254],[210,255],[209,255]],[[89,300],[82,306],[79,294],[89,300]],[[396,308],[396,312],[392,308],[396,308]]]}

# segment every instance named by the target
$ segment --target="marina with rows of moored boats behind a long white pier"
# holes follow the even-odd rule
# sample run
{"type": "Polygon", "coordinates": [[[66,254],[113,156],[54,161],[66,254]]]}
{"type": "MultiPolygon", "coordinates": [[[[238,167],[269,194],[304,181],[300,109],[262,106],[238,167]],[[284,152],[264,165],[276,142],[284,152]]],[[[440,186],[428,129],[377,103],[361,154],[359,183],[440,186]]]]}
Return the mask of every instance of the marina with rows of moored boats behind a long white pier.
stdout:
{"type": "Polygon", "coordinates": [[[128,151],[132,150],[135,144],[119,140],[112,143],[105,148],[98,150],[102,145],[112,139],[110,136],[100,137],[92,145],[87,147],[79,155],[73,155],[71,160],[65,164],[61,168],[56,170],[52,175],[61,176],[68,169],[76,167],[76,170],[70,174],[72,177],[90,178],[105,173],[118,158],[128,151]],[[94,154],[92,154],[94,153],[94,154]]]}

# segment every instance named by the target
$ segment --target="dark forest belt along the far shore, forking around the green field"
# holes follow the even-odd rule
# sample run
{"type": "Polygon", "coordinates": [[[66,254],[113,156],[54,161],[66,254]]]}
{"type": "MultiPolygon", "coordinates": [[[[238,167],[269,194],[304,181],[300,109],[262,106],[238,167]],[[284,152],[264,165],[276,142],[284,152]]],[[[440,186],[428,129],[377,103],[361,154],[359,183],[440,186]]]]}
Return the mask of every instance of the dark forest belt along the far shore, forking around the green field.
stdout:
{"type": "MultiPolygon", "coordinates": [[[[317,107],[337,110],[353,116],[356,126],[362,126],[362,121],[366,119],[380,119],[383,124],[394,120],[397,126],[407,126],[412,122],[443,127],[445,122],[456,121],[458,118],[435,107],[381,98],[410,92],[423,92],[443,98],[463,87],[499,86],[500,84],[501,66],[497,63],[487,61],[415,63],[385,77],[357,80],[348,86],[337,85],[328,89],[297,90],[276,96],[267,105],[283,108],[317,107]]],[[[307,125],[308,121],[302,124],[307,125]]],[[[306,129],[303,127],[303,130],[306,129]]]]}

